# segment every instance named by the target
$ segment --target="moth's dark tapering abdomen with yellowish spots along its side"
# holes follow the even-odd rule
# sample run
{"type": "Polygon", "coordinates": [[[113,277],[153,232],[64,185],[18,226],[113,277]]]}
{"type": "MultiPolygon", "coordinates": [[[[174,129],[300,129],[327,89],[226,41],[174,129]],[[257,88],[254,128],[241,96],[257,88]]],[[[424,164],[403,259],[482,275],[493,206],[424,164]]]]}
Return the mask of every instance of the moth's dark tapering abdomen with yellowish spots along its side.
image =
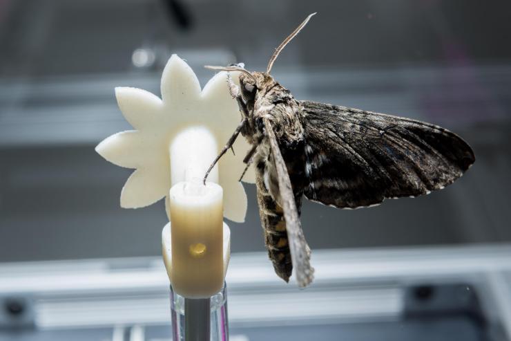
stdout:
{"type": "Polygon", "coordinates": [[[268,256],[277,275],[289,282],[289,277],[293,272],[293,264],[282,208],[273,200],[265,187],[262,172],[258,172],[255,185],[258,189],[259,215],[268,256]]]}

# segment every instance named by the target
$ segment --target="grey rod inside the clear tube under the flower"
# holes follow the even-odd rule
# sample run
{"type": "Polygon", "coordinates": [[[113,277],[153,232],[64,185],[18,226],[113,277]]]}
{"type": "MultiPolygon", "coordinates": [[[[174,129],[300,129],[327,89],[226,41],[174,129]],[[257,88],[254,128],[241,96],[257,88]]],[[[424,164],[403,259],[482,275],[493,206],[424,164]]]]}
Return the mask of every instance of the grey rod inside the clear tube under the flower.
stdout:
{"type": "Polygon", "coordinates": [[[209,341],[211,338],[211,307],[209,298],[184,299],[184,339],[209,341]]]}

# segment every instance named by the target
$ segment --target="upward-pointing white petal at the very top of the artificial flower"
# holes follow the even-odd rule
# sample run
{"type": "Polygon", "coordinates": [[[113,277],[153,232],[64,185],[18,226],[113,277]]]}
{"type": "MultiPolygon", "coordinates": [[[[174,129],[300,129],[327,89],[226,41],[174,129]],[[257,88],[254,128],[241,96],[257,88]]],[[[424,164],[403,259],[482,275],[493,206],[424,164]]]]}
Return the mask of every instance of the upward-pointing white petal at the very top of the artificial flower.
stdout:
{"type": "Polygon", "coordinates": [[[200,84],[191,67],[172,55],[162,74],[162,99],[166,104],[186,104],[200,98],[200,84]]]}

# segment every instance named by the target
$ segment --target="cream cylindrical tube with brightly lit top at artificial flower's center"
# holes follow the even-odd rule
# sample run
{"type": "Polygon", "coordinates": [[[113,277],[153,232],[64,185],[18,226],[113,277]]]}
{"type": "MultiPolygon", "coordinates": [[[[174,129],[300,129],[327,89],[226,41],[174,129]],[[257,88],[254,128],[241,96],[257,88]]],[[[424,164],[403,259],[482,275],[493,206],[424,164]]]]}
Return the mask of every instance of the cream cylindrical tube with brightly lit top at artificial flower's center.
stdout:
{"type": "Polygon", "coordinates": [[[172,187],[171,282],[185,298],[206,298],[224,284],[223,191],[215,166],[206,185],[202,178],[218,153],[206,127],[188,127],[169,147],[172,187]]]}

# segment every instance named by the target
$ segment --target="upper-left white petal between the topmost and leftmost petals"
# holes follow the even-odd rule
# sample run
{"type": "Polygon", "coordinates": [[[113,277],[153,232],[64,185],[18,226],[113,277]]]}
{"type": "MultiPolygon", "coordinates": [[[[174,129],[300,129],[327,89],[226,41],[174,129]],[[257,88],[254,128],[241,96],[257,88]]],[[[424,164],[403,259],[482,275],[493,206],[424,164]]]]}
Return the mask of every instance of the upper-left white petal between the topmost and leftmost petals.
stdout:
{"type": "Polygon", "coordinates": [[[163,102],[153,93],[137,88],[117,87],[115,97],[124,118],[133,128],[142,130],[157,125],[160,120],[163,102]]]}

